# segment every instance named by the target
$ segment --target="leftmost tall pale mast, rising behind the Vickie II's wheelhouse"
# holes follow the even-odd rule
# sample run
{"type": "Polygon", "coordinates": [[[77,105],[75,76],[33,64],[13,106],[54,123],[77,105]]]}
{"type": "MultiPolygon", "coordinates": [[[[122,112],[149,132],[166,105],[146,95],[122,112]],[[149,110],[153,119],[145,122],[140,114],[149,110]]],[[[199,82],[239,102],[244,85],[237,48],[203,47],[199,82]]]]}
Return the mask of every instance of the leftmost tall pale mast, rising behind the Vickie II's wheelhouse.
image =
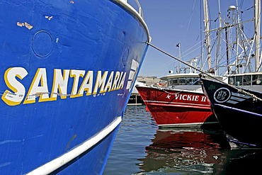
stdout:
{"type": "Polygon", "coordinates": [[[207,0],[203,0],[204,26],[205,26],[205,44],[207,46],[207,65],[211,68],[211,47],[210,47],[210,20],[208,16],[207,0]]]}

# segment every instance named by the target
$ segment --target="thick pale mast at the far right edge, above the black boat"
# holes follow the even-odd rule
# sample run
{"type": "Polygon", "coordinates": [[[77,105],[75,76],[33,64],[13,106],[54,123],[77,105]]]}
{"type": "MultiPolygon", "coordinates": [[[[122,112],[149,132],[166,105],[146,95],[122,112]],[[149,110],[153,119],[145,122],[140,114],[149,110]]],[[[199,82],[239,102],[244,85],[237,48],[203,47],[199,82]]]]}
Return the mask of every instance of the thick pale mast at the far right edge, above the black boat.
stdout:
{"type": "Polygon", "coordinates": [[[260,69],[260,28],[261,28],[261,0],[254,0],[254,28],[255,28],[255,71],[260,69]]]}

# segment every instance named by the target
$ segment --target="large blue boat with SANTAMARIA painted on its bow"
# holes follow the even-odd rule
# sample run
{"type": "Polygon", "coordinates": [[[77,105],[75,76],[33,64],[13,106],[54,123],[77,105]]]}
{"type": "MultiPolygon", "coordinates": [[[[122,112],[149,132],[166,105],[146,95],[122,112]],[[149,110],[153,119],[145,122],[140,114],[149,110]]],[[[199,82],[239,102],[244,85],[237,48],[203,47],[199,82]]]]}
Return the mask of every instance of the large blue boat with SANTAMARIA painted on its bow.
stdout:
{"type": "Polygon", "coordinates": [[[103,174],[150,42],[138,1],[0,9],[0,174],[103,174]]]}

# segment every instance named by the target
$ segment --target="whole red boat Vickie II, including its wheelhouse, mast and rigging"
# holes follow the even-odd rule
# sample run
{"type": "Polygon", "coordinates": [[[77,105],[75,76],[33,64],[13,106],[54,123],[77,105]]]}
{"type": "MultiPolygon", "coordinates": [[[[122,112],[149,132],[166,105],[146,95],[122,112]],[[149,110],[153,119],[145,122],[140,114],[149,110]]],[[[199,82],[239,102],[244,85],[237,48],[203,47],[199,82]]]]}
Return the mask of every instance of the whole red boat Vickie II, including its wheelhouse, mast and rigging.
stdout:
{"type": "Polygon", "coordinates": [[[198,72],[198,69],[200,71],[205,69],[205,72],[208,74],[224,80],[224,77],[220,76],[216,69],[219,62],[215,62],[216,65],[212,65],[211,62],[210,20],[207,1],[204,1],[203,9],[205,40],[202,43],[203,47],[206,48],[205,55],[202,54],[201,57],[194,57],[184,62],[181,57],[181,43],[178,43],[176,45],[179,49],[178,58],[173,58],[179,61],[179,66],[174,70],[169,70],[168,75],[160,78],[162,81],[161,85],[136,86],[147,106],[147,110],[152,114],[160,128],[205,128],[218,125],[199,81],[200,72],[198,72]],[[199,66],[200,60],[206,61],[199,66]],[[182,67],[181,62],[186,63],[187,66],[182,67]]]}

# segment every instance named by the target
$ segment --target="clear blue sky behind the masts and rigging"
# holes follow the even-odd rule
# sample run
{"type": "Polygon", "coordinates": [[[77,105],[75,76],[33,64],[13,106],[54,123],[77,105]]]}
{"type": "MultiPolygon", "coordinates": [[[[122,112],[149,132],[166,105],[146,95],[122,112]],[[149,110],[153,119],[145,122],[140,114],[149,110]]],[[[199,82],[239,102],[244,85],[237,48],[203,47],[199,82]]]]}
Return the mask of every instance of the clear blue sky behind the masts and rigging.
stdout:
{"type": "MultiPolygon", "coordinates": [[[[190,60],[200,56],[200,40],[205,38],[203,33],[203,0],[139,0],[144,13],[144,21],[147,23],[152,37],[152,45],[178,57],[178,47],[181,43],[182,60],[190,60]],[[201,36],[202,35],[202,36],[201,36]],[[202,39],[201,39],[202,37],[202,39]],[[193,47],[198,45],[198,47],[193,47]],[[193,48],[192,48],[193,47],[193,48]],[[190,49],[191,48],[191,49],[190,49]]],[[[131,0],[128,0],[131,3],[131,0]]],[[[235,0],[220,0],[222,17],[227,16],[229,6],[236,6],[235,0]]],[[[246,18],[251,18],[253,9],[245,11],[253,6],[253,0],[239,0],[239,9],[244,11],[246,18]],[[249,16],[247,15],[249,13],[249,16]]],[[[218,17],[218,0],[208,1],[210,7],[210,28],[215,28],[215,19],[218,17]]],[[[149,46],[144,58],[140,76],[162,77],[168,74],[170,69],[178,66],[173,58],[164,55],[149,46]]]]}

